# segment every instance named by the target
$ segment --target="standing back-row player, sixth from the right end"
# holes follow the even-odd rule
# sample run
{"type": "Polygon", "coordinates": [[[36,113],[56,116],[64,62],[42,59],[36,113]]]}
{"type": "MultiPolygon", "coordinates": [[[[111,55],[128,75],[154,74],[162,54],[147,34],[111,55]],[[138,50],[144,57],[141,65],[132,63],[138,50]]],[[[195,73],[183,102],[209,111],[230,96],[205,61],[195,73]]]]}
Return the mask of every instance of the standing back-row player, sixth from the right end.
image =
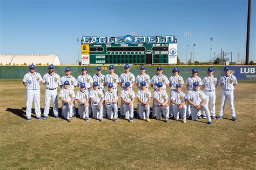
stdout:
{"type": "MultiPolygon", "coordinates": [[[[140,86],[140,84],[145,81],[146,82],[146,89],[149,88],[149,83],[150,83],[150,76],[149,74],[145,73],[146,71],[146,67],[143,65],[140,67],[140,74],[136,77],[136,85],[138,87],[138,90],[141,90],[142,87],[140,86]]],[[[140,118],[140,113],[138,110],[138,105],[137,105],[137,119],[140,118]]]]}

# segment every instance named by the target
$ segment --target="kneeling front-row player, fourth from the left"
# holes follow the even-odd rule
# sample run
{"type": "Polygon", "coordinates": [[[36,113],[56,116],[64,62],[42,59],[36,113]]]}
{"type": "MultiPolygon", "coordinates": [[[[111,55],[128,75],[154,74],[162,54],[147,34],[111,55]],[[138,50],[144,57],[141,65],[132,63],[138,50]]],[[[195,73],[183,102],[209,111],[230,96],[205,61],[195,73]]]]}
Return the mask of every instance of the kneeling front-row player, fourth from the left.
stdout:
{"type": "Polygon", "coordinates": [[[113,119],[114,117],[114,121],[117,121],[118,96],[117,96],[117,93],[113,91],[112,83],[108,85],[108,91],[105,92],[104,100],[106,103],[106,110],[107,110],[107,115],[109,119],[113,119]]]}

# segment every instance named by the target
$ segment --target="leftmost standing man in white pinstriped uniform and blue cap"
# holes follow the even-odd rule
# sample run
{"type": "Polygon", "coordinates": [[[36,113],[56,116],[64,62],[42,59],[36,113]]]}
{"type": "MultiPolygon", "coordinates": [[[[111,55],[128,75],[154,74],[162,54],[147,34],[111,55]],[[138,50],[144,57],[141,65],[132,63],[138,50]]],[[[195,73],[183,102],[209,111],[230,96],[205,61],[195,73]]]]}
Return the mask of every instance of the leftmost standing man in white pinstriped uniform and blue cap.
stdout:
{"type": "Polygon", "coordinates": [[[26,87],[26,120],[31,120],[31,107],[34,101],[35,112],[38,120],[41,118],[40,108],[40,84],[42,77],[39,73],[35,72],[35,65],[29,66],[29,73],[26,73],[23,78],[23,85],[26,87]]]}

